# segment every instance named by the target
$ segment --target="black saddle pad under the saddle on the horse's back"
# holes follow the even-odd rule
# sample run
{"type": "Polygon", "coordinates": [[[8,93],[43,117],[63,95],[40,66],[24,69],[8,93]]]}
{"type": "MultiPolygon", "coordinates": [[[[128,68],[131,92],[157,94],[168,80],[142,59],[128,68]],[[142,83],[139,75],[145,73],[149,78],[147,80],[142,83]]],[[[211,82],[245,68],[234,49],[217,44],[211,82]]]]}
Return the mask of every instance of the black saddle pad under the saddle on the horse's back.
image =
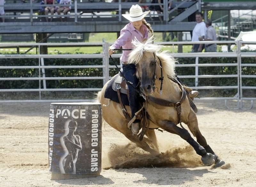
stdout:
{"type": "MultiPolygon", "coordinates": [[[[120,103],[119,99],[118,99],[117,92],[115,90],[113,90],[113,88],[112,88],[112,85],[115,84],[116,77],[117,77],[117,75],[115,75],[109,81],[108,86],[107,86],[107,88],[105,90],[105,93],[104,93],[104,97],[110,99],[111,101],[115,101],[117,103],[120,103]]],[[[126,93],[127,93],[127,91],[126,91],[126,93]]],[[[124,105],[129,106],[129,100],[128,100],[127,94],[123,94],[121,92],[121,99],[122,99],[122,102],[123,102],[124,105]]]]}

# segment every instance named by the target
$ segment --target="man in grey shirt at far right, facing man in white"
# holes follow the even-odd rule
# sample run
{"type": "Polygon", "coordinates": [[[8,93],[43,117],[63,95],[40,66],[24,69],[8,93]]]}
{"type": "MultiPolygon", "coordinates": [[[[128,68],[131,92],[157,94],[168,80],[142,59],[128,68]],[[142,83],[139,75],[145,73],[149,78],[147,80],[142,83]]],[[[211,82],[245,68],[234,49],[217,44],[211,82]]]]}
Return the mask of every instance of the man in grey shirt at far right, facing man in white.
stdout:
{"type": "MultiPolygon", "coordinates": [[[[200,41],[217,41],[216,31],[212,26],[212,21],[210,19],[207,19],[205,21],[205,25],[207,27],[206,35],[205,37],[200,37],[200,41]]],[[[211,44],[205,44],[204,52],[217,52],[217,44],[211,43],[211,44]]]]}

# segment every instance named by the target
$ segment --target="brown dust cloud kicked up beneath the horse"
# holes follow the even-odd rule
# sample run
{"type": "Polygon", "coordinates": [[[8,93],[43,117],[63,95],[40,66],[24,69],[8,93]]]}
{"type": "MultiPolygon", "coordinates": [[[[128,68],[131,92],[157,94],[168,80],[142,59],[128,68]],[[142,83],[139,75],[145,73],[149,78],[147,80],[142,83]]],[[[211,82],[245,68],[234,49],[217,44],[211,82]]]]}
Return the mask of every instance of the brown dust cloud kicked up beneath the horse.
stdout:
{"type": "Polygon", "coordinates": [[[134,144],[112,144],[108,152],[109,164],[104,169],[152,168],[152,167],[198,167],[203,166],[193,147],[175,147],[164,153],[152,155],[134,144]]]}

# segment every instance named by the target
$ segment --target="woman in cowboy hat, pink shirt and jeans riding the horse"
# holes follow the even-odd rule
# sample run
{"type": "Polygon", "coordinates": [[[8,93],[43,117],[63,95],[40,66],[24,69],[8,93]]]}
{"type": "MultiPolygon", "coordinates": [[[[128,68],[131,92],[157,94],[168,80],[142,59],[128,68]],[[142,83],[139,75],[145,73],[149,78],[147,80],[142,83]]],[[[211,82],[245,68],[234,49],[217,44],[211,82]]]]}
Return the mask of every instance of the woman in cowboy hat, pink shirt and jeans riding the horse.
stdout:
{"type": "MultiPolygon", "coordinates": [[[[128,19],[130,23],[128,23],[120,32],[119,38],[114,42],[113,45],[109,47],[108,54],[112,55],[114,53],[114,49],[132,49],[132,40],[135,38],[138,41],[144,41],[148,39],[148,33],[151,32],[153,34],[153,30],[151,26],[144,19],[145,16],[149,13],[143,12],[141,7],[136,4],[132,5],[130,8],[130,14],[122,14],[125,19],[128,19]]],[[[133,63],[128,63],[128,56],[131,53],[130,50],[124,50],[123,55],[120,60],[123,64],[123,72],[127,81],[132,82],[132,85],[136,87],[139,83],[139,80],[136,77],[136,66],[133,63]]],[[[136,92],[136,89],[130,84],[128,84],[129,89],[129,98],[130,98],[130,107],[132,110],[131,118],[134,114],[139,110],[139,99],[140,95],[136,92]]],[[[131,130],[134,134],[138,134],[140,131],[140,120],[136,119],[132,125],[131,130]]]]}

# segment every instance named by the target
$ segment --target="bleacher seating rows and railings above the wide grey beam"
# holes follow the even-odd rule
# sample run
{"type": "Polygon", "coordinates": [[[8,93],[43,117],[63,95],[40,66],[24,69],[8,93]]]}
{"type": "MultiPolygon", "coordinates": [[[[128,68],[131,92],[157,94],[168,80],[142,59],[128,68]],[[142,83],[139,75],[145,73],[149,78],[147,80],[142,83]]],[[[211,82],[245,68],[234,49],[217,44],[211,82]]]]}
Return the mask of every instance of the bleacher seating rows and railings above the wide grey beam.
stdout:
{"type": "MultiPolygon", "coordinates": [[[[129,0],[127,0],[129,1],[129,0]]],[[[44,22],[44,7],[46,6],[59,6],[59,3],[55,1],[55,5],[42,5],[40,4],[41,0],[26,0],[26,1],[17,1],[17,0],[5,0],[4,11],[5,11],[5,22],[44,22]]],[[[186,10],[191,5],[195,4],[195,1],[186,1],[177,2],[170,0],[172,2],[172,7],[176,8],[176,13],[180,13],[186,10]]],[[[68,17],[67,21],[123,21],[121,14],[129,11],[131,5],[134,4],[132,2],[122,2],[121,3],[121,11],[120,4],[118,2],[108,2],[106,0],[72,0],[71,10],[68,12],[68,15],[62,15],[62,17],[68,17]]],[[[166,2],[167,4],[167,2],[166,2]]],[[[155,6],[159,6],[160,4],[152,4],[150,2],[146,4],[150,7],[151,10],[151,19],[150,21],[159,21],[159,16],[166,17],[164,21],[168,22],[173,17],[168,14],[168,11],[164,11],[161,14],[157,14],[154,10],[155,6]]],[[[165,4],[161,4],[164,6],[165,4]]],[[[172,11],[172,14],[175,11],[172,11]]],[[[50,12],[48,14],[48,18],[50,18],[50,12]]],[[[53,22],[60,21],[60,16],[57,15],[55,11],[53,15],[53,22]]]]}

